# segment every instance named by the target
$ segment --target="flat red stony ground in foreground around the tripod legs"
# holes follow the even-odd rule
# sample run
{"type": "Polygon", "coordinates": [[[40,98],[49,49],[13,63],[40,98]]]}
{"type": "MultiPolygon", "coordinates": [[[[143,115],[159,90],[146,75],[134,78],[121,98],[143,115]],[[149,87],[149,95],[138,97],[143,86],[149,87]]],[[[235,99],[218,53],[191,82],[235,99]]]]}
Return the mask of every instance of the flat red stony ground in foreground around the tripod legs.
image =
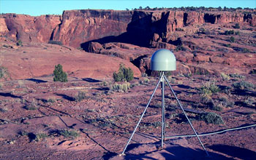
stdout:
{"type": "MultiPolygon", "coordinates": [[[[247,79],[255,76],[246,75],[247,79]]],[[[173,89],[185,108],[194,108],[199,95],[196,88],[204,79],[212,76],[176,76],[173,89]]],[[[210,157],[200,147],[195,137],[165,140],[165,148],[160,148],[160,126],[147,125],[161,121],[161,109],[154,106],[161,101],[160,89],[154,96],[138,131],[127,148],[127,156],[118,156],[124,149],[130,133],[143,112],[148,99],[157,84],[157,79],[150,79],[149,84],[132,87],[128,92],[107,93],[108,86],[95,79],[69,78],[69,82],[53,82],[53,77],[41,77],[29,80],[5,81],[1,89],[1,125],[0,157],[1,159],[254,159],[256,151],[255,127],[226,132],[221,135],[200,137],[210,157]],[[72,100],[78,91],[86,92],[86,99],[80,102],[72,100]],[[55,99],[50,103],[48,99],[55,99]],[[23,108],[34,102],[37,110],[23,108]],[[75,129],[80,137],[63,137],[56,131],[75,129]],[[37,135],[48,135],[36,141],[26,131],[37,135]]],[[[143,78],[141,78],[143,79],[143,78]]],[[[233,83],[217,79],[218,85],[233,83]]],[[[109,81],[109,80],[108,80],[109,81]]],[[[134,80],[131,84],[138,84],[134,80]]],[[[110,81],[109,81],[110,82],[110,81]]],[[[113,83],[113,82],[112,82],[113,83]]],[[[231,92],[233,90],[231,89],[231,92]]],[[[170,109],[175,100],[170,89],[165,91],[167,115],[167,135],[192,134],[187,121],[182,120],[178,109],[170,109]],[[177,113],[177,114],[175,114],[177,113]]],[[[255,97],[255,92],[247,92],[247,97],[255,97]]],[[[244,101],[238,93],[226,95],[218,93],[214,99],[227,97],[235,102],[244,101]]],[[[198,111],[211,111],[209,108],[196,108],[198,111]]],[[[222,129],[255,124],[254,105],[239,105],[212,111],[222,116],[225,124],[206,124],[204,121],[192,121],[198,133],[213,132],[222,129]]],[[[195,113],[188,113],[192,119],[195,113]]]]}

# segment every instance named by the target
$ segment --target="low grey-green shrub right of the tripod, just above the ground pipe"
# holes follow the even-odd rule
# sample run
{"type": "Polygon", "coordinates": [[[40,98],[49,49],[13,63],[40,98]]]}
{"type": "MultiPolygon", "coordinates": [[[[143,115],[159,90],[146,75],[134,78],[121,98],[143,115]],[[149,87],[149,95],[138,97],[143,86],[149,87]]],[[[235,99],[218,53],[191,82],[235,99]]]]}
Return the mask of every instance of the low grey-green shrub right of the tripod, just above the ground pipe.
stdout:
{"type": "Polygon", "coordinates": [[[207,124],[224,124],[222,117],[213,112],[201,113],[198,119],[200,121],[206,121],[207,124]]]}

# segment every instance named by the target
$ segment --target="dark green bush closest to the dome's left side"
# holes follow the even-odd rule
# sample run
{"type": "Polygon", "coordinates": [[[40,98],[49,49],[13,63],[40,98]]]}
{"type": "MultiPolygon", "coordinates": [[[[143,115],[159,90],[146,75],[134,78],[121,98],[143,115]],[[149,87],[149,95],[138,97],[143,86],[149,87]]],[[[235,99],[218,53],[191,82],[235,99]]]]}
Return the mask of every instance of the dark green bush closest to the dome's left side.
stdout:
{"type": "Polygon", "coordinates": [[[123,64],[120,64],[118,73],[113,73],[113,79],[115,81],[132,81],[133,71],[131,68],[125,68],[123,64]]]}

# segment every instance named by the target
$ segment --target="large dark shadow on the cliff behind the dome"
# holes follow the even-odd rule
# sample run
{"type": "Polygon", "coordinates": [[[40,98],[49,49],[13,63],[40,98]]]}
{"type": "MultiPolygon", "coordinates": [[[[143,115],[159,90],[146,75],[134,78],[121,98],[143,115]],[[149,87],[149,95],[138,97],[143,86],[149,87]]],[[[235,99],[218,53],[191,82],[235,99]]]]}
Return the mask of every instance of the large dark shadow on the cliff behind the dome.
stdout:
{"type": "Polygon", "coordinates": [[[80,47],[86,52],[89,52],[91,42],[98,42],[99,44],[121,42],[140,47],[151,47],[150,44],[154,33],[162,35],[162,33],[165,32],[166,29],[163,27],[164,25],[162,23],[167,23],[167,15],[164,16],[164,19],[157,21],[152,20],[151,14],[144,15],[144,17],[140,17],[140,15],[140,12],[135,12],[132,15],[131,22],[127,25],[127,31],[121,33],[119,36],[105,36],[101,39],[86,41],[80,44],[80,47]]]}

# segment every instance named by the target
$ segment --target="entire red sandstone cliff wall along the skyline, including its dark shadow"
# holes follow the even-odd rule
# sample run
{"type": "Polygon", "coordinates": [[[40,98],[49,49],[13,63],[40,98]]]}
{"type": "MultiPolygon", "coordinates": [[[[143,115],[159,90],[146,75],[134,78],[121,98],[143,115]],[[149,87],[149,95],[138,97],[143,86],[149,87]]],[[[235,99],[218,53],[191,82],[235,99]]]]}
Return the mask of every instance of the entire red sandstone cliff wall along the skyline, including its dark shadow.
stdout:
{"type": "Polygon", "coordinates": [[[0,36],[14,40],[61,41],[85,48],[89,41],[121,41],[144,47],[167,47],[178,28],[203,23],[256,26],[254,12],[70,10],[63,15],[0,15],[0,36]]]}

